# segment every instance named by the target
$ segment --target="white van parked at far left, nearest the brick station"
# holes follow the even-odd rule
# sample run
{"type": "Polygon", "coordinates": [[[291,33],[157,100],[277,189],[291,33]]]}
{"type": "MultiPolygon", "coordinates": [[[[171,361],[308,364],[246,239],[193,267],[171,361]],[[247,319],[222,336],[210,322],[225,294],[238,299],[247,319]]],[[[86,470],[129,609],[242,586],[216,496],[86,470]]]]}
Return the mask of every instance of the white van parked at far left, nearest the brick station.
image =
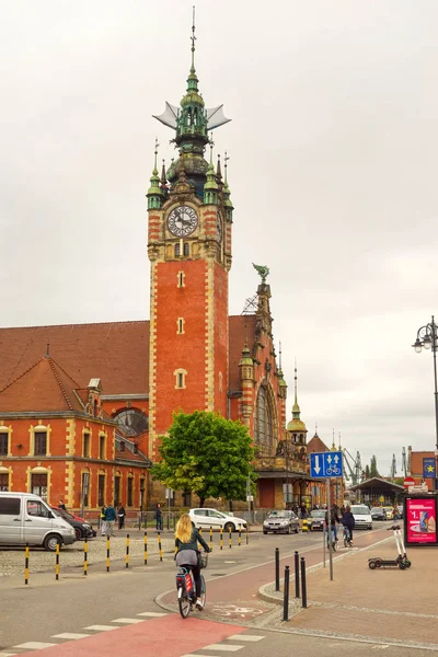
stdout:
{"type": "Polygon", "coordinates": [[[32,493],[0,493],[0,545],[70,545],[74,529],[50,507],[32,493]]]}

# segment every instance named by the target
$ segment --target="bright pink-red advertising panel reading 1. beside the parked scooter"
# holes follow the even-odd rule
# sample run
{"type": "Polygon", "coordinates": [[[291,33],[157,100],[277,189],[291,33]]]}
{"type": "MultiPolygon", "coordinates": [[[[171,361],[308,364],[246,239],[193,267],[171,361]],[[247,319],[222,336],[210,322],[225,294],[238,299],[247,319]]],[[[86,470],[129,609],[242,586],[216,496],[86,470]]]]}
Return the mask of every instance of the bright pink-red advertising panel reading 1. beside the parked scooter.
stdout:
{"type": "Polygon", "coordinates": [[[406,497],[405,540],[407,545],[437,545],[437,498],[406,497]]]}

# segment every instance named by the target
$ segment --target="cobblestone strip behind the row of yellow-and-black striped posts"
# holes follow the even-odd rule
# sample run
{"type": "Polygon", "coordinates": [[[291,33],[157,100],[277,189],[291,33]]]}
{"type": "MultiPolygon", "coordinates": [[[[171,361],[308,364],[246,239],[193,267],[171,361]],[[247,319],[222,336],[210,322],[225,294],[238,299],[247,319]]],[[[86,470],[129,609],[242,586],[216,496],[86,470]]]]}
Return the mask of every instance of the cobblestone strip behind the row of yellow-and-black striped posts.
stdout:
{"type": "MultiPolygon", "coordinates": [[[[106,539],[96,537],[89,540],[88,563],[89,565],[104,563],[106,560],[106,539]]],[[[59,555],[61,568],[82,567],[83,541],[76,541],[72,545],[62,548],[59,555]]],[[[169,557],[174,553],[175,540],[171,534],[161,537],[163,553],[169,557]]],[[[129,556],[131,558],[142,557],[145,554],[143,532],[136,535],[130,534],[129,556]]],[[[149,556],[158,556],[158,537],[155,532],[148,532],[148,560],[149,556]]],[[[122,560],[126,555],[126,534],[111,539],[111,560],[122,560]]],[[[31,573],[44,573],[55,568],[55,553],[34,548],[30,553],[31,573]]],[[[24,569],[24,549],[0,549],[0,576],[20,575],[24,569]]]]}

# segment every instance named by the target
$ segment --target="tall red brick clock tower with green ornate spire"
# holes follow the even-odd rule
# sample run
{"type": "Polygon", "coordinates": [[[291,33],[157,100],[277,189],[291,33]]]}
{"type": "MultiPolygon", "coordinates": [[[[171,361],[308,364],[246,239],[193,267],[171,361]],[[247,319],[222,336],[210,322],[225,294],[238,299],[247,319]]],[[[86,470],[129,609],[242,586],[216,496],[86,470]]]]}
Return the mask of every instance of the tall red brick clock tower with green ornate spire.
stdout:
{"type": "Polygon", "coordinates": [[[208,130],[227,123],[222,106],[207,110],[194,66],[187,93],[155,117],[175,130],[178,159],[148,191],[151,261],[149,456],[172,423],[172,412],[219,411],[227,417],[228,272],[232,204],[220,163],[204,159],[208,130]]]}

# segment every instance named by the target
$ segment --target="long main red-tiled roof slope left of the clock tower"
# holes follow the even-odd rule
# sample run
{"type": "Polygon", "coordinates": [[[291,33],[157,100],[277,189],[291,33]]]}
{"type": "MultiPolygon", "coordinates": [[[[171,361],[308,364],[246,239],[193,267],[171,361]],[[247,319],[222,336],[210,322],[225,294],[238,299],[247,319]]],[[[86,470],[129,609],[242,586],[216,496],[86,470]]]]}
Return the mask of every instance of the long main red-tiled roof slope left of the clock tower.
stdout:
{"type": "Polygon", "coordinates": [[[108,322],[0,328],[0,389],[47,350],[80,381],[102,381],[103,394],[149,391],[149,322],[108,322]]]}

